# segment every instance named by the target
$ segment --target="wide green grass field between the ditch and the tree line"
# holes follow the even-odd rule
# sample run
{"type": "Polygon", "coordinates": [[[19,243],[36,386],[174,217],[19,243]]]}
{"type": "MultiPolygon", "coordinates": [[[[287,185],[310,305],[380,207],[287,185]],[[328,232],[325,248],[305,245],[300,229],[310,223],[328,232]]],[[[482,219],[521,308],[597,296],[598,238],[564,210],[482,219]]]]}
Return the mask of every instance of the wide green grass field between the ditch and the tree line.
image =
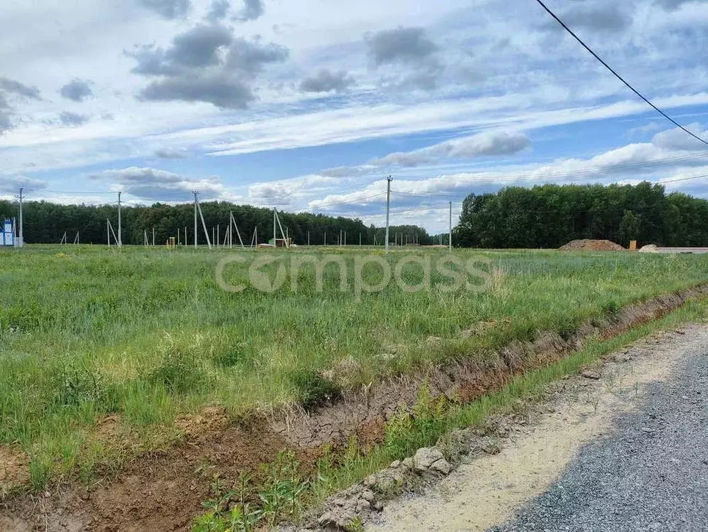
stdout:
{"type": "MultiPolygon", "coordinates": [[[[392,265],[414,255],[435,264],[447,250],[384,256],[380,248],[301,248],[236,256],[276,253],[339,256],[351,281],[358,255],[392,265]]],[[[190,248],[0,250],[0,445],[28,453],[33,487],[89,474],[99,457],[117,453],[86,445],[106,414],[120,414],[121,426],[139,434],[139,452],[171,441],[175,418],[205,405],[238,415],[315,402],[330,386],[488,356],[539,330],[566,334],[590,317],[708,279],[702,256],[463,250],[455,255],[491,261],[472,278],[483,290],[409,293],[389,283],[358,297],[351,282],[340,290],[339,268],[330,264],[321,292],[313,272],[302,268],[297,290],[285,271],[274,293],[232,293],[215,276],[229,255],[190,248]]],[[[276,273],[274,265],[264,271],[276,273]]],[[[236,284],[248,273],[248,264],[231,264],[224,276],[236,284]]],[[[364,270],[370,284],[377,275],[364,270]]],[[[409,285],[423,279],[411,265],[402,276],[409,285]]],[[[431,283],[446,279],[433,268],[431,283]]]]}

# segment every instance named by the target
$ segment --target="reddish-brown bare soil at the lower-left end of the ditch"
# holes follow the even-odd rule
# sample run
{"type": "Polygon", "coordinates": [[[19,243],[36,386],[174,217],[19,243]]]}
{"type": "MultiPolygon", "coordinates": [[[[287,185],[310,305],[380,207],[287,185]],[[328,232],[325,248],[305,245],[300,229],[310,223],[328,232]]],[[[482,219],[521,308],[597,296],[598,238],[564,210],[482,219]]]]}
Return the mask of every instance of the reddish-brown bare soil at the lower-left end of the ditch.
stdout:
{"type": "MultiPolygon", "coordinates": [[[[166,453],[144,455],[116,480],[73,486],[59,494],[9,497],[0,504],[0,530],[187,530],[214,475],[235,479],[272,462],[287,442],[264,421],[228,426],[220,409],[178,421],[186,441],[166,453]]],[[[306,463],[308,456],[300,453],[306,463]]]]}

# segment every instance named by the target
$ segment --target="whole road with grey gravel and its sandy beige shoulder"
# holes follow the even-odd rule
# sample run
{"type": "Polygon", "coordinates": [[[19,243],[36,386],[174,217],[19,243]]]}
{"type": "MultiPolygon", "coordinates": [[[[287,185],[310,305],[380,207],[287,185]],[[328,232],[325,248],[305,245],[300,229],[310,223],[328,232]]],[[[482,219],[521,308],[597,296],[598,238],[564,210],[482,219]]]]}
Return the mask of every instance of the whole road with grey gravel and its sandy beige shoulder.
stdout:
{"type": "Polygon", "coordinates": [[[590,373],[555,383],[498,454],[390,502],[367,530],[708,531],[708,325],[590,373]]]}

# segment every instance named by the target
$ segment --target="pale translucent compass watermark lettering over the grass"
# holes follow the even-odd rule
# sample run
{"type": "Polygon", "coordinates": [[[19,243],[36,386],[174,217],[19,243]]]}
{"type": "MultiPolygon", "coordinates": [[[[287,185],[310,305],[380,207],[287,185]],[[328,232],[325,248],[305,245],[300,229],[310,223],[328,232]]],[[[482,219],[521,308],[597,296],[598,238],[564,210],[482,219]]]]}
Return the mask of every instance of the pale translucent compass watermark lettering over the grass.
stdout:
{"type": "Polygon", "coordinates": [[[489,288],[492,273],[489,257],[455,254],[406,254],[390,259],[380,254],[232,254],[219,261],[215,272],[217,285],[235,293],[247,288],[263,293],[323,293],[328,281],[331,284],[336,278],[336,289],[352,293],[357,300],[364,293],[382,292],[392,283],[405,293],[482,292],[489,288]],[[239,268],[236,279],[227,278],[229,267],[239,268]]]}

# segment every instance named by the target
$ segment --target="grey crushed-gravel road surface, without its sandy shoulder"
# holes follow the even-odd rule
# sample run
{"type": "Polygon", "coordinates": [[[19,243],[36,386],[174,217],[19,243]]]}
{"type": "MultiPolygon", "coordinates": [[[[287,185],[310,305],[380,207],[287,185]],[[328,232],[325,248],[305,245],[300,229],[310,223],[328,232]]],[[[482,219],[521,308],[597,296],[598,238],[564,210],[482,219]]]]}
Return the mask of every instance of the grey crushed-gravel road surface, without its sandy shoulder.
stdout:
{"type": "MultiPolygon", "coordinates": [[[[708,342],[495,532],[708,530],[708,342]]],[[[703,335],[704,336],[704,335],[703,335]]]]}

